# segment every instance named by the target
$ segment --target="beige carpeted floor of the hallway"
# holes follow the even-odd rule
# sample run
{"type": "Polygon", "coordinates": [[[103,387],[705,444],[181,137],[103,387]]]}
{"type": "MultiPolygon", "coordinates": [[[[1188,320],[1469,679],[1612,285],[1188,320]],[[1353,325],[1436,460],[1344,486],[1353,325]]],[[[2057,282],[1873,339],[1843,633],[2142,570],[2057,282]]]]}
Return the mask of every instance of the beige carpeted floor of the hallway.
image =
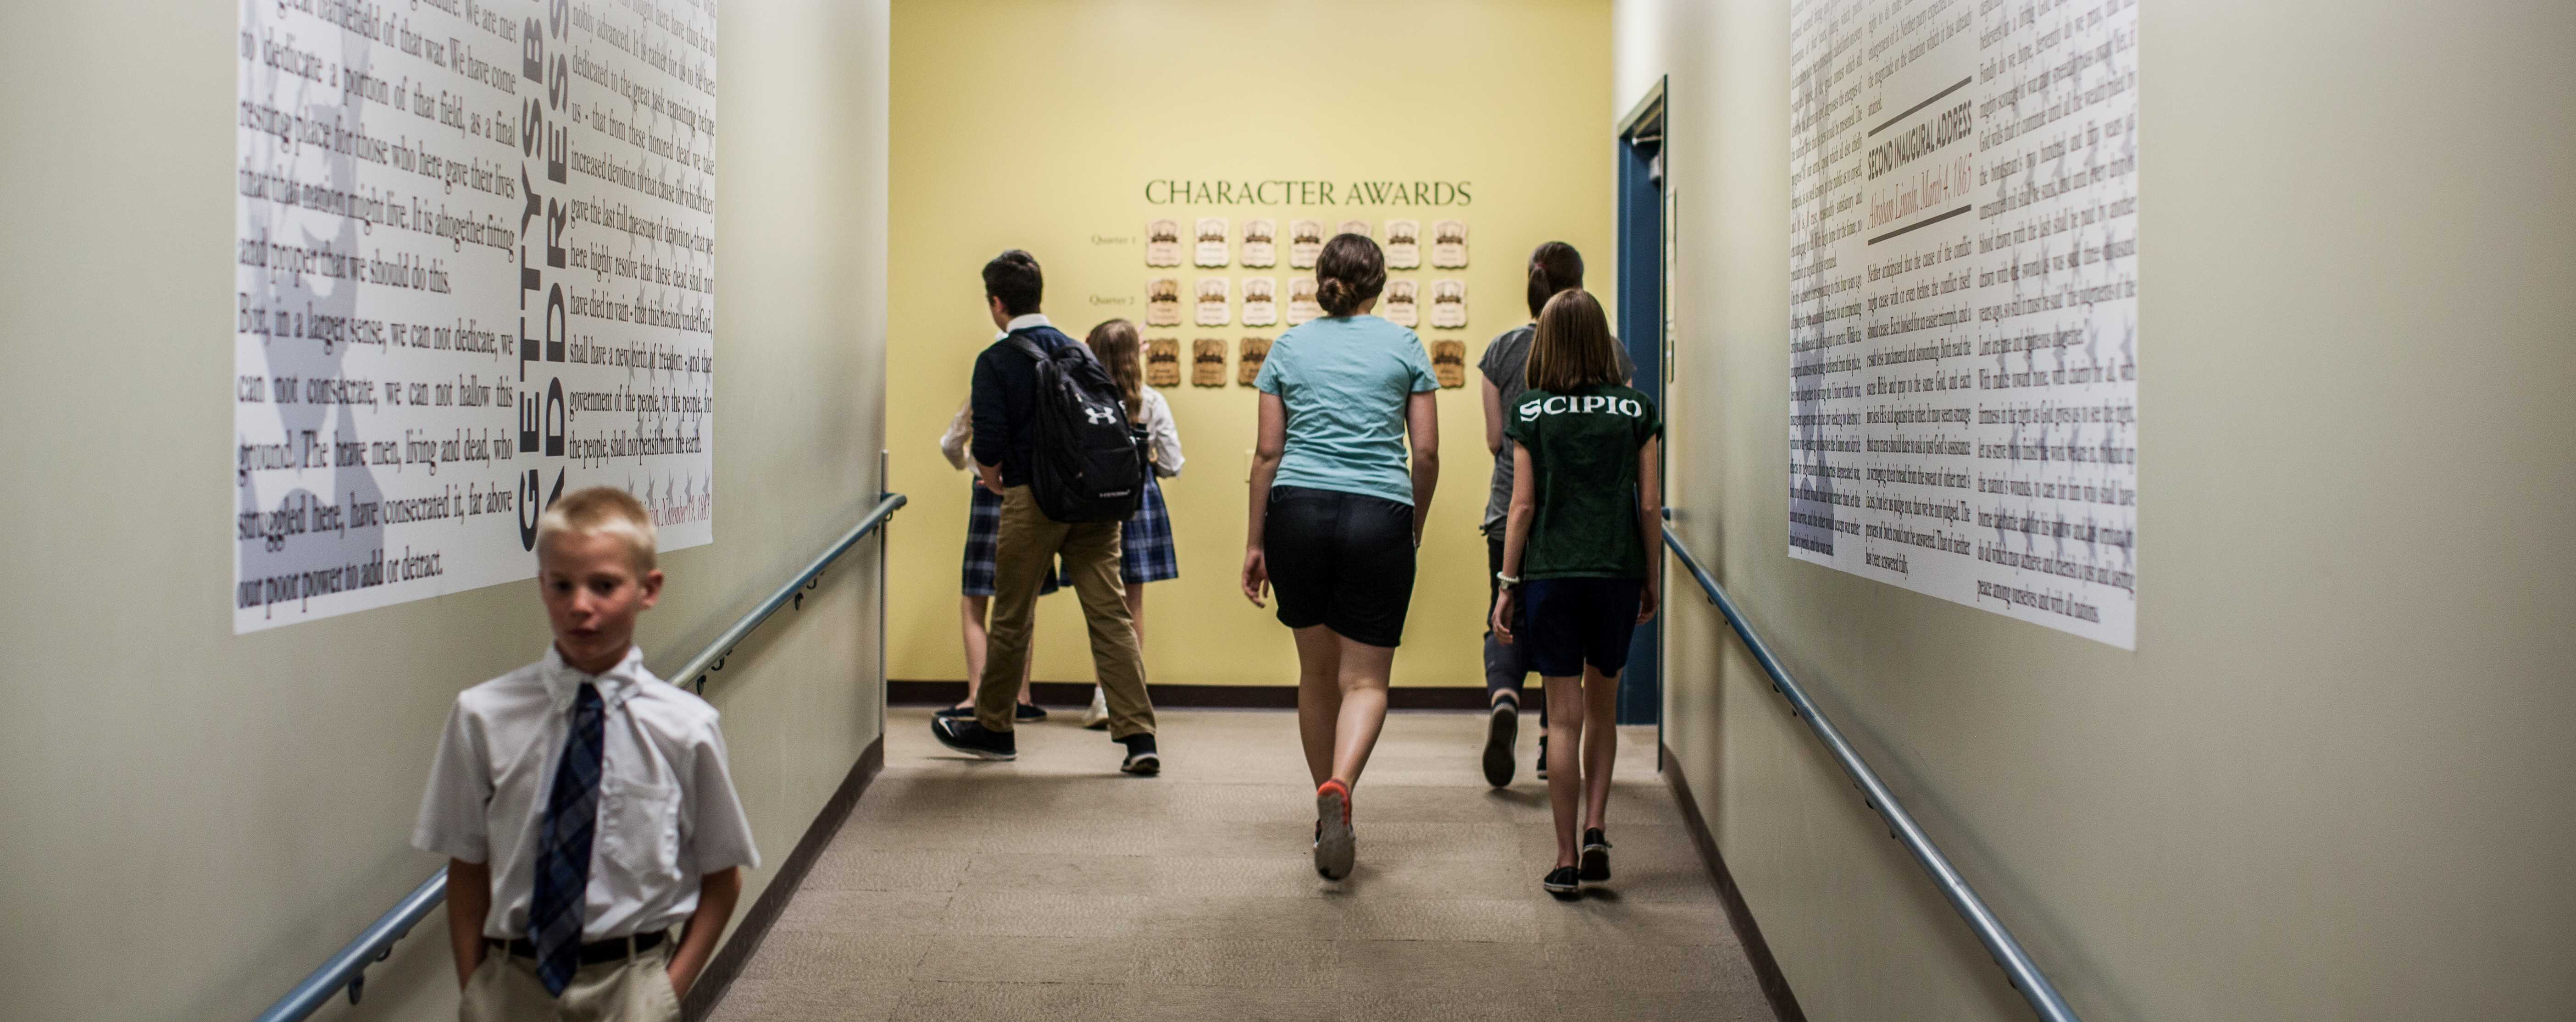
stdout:
{"type": "Polygon", "coordinates": [[[1558,904],[1535,729],[1494,793],[1481,716],[1394,713],[1327,883],[1291,713],[1164,711],[1154,780],[1074,713],[1007,765],[927,718],[886,713],[884,775],[714,1019],[1770,1019],[1654,729],[1620,736],[1615,880],[1558,904]]]}

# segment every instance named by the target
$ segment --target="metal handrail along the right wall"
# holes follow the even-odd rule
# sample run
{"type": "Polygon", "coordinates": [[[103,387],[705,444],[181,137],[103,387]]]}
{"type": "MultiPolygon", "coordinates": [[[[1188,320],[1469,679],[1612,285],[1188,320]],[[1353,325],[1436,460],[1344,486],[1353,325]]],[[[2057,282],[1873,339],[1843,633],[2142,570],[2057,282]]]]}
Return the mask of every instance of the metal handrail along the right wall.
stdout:
{"type": "Polygon", "coordinates": [[[1940,886],[1940,893],[1950,898],[1950,906],[1958,909],[1960,919],[1968,922],[1968,929],[1976,932],[1976,940],[1984,942],[1986,952],[1994,955],[1994,963],[2004,968],[2004,978],[2012,983],[2012,989],[2022,991],[2022,999],[2030,1001],[2030,1009],[2038,1012],[2040,1019],[2079,1022],[2076,1012],[2066,1007],[2063,996],[2058,996],[2058,989],[2050,986],[2048,976],[2040,973],[2040,965],[2032,963],[2030,952],[2022,950],[2022,942],[2012,940],[2012,929],[2004,929],[2004,922],[1994,916],[1994,909],[1986,909],[1986,901],[1978,898],[1976,888],[1971,888],[1968,880],[1958,875],[1958,868],[1950,865],[1950,857],[1940,855],[1940,847],[1932,844],[1932,837],[1927,837],[1924,829],[1914,824],[1914,816],[1906,813],[1906,808],[1896,801],[1888,785],[1878,780],[1878,772],[1873,772],[1870,765],[1860,759],[1860,752],[1855,752],[1852,744],[1842,739],[1842,731],[1834,729],[1834,721],[1826,721],[1824,711],[1816,711],[1816,703],[1806,698],[1806,687],[1798,687],[1798,680],[1788,677],[1788,669],[1780,667],[1780,659],[1772,656],[1762,636],[1754,633],[1754,626],[1744,620],[1744,610],[1739,610],[1736,602],[1718,584],[1718,579],[1713,579],[1708,569],[1700,566],[1700,559],[1690,556],[1690,548],[1682,546],[1682,538],[1672,533],[1672,525],[1664,525],[1664,546],[1669,546],[1672,556],[1680,559],[1685,569],[1690,569],[1692,579],[1700,579],[1700,590],[1708,592],[1708,602],[1718,605],[1718,613],[1726,615],[1726,623],[1736,628],[1736,638],[1744,638],[1744,649],[1749,649],[1754,654],[1754,662],[1762,664],[1762,672],[1772,677],[1772,690],[1788,700],[1790,713],[1803,718],[1806,726],[1816,731],[1816,741],[1824,741],[1824,752],[1834,754],[1834,762],[1842,765],[1842,772],[1852,775],[1852,785],[1860,788],[1868,806],[1875,808],[1878,816],[1888,821],[1888,837],[1904,844],[1906,852],[1914,855],[1914,862],[1932,875],[1932,883],[1940,886]]]}

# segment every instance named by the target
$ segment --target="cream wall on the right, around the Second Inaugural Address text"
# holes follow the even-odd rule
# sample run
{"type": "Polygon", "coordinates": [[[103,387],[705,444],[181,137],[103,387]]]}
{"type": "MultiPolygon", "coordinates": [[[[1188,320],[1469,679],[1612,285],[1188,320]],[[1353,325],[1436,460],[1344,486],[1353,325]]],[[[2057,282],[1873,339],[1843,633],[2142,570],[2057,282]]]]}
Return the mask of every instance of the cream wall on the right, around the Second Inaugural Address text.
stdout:
{"type": "MultiPolygon", "coordinates": [[[[2576,8],[2143,8],[2138,651],[1785,556],[1788,3],[1672,75],[1672,507],[2089,1022],[2576,1004],[2576,8]]],[[[1667,739],[1811,1019],[2020,996],[1698,600],[1667,739]]]]}

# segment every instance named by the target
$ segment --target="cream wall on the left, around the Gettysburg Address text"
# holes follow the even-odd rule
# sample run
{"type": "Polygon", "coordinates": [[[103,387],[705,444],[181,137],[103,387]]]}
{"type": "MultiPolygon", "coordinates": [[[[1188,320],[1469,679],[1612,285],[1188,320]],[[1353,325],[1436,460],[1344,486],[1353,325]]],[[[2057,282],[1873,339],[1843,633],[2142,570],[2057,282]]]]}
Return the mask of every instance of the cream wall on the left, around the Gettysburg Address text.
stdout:
{"type": "MultiPolygon", "coordinates": [[[[546,644],[523,584],[232,633],[234,31],[222,3],[82,3],[0,33],[10,1019],[268,1007],[440,865],[407,839],[446,708],[546,644]]],[[[719,39],[726,497],[716,543],[665,559],[659,669],[878,492],[886,5],[737,3],[719,39]]],[[[873,574],[845,561],[708,690],[770,868],[876,739],[873,574]]],[[[443,942],[322,1017],[453,1019],[443,942]]]]}

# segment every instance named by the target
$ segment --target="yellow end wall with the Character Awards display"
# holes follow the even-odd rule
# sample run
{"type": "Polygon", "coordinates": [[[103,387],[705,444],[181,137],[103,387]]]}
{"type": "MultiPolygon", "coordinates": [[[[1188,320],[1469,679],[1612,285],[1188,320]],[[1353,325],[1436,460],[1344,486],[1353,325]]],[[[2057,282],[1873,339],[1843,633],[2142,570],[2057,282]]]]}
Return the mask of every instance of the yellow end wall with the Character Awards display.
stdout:
{"type": "MultiPolygon", "coordinates": [[[[909,0],[894,5],[891,350],[886,440],[894,487],[912,494],[896,530],[889,674],[963,677],[958,548],[969,476],[938,435],[976,350],[992,340],[976,270],[1005,247],[1046,265],[1046,311],[1082,337],[1095,322],[1144,322],[1144,281],[1278,275],[1149,270],[1144,227],[1170,216],[1270,216],[1327,224],[1391,216],[1425,227],[1425,342],[1466,340],[1468,360],[1528,319],[1530,247],[1566,239],[1610,260],[1610,5],[1605,0],[1448,3],[1038,3],[909,0]],[[1466,209],[1406,206],[1151,206],[1146,180],[1468,180],[1466,209]],[[1430,221],[1468,224],[1468,327],[1430,327],[1430,221]],[[1115,239],[1115,242],[1095,242],[1115,239]],[[1123,304],[1103,304],[1123,301],[1123,304]]],[[[1280,196],[1273,190],[1273,196],[1280,196]]],[[[1383,234],[1383,229],[1381,229],[1383,234]]],[[[1239,237],[1236,237],[1239,242],[1239,237]]],[[[1188,250],[1188,239],[1185,239],[1188,250]]],[[[1185,252],[1188,263],[1188,252],[1185,252]]],[[[1239,311],[1239,301],[1236,301],[1239,311]]],[[[1283,306],[1285,311],[1285,306],[1283,306]]],[[[1270,335],[1283,327],[1151,327],[1146,337],[1270,335]]],[[[1473,368],[1471,368],[1473,373],[1473,368]]],[[[1164,389],[1188,469],[1164,484],[1180,579],[1146,602],[1157,682],[1293,685],[1296,651],[1267,610],[1236,590],[1244,541],[1255,391],[1164,389]]],[[[1476,389],[1440,394],[1443,484],[1422,546],[1396,685],[1481,685],[1484,512],[1489,456],[1476,389]]],[[[1038,605],[1038,677],[1090,680],[1072,595],[1038,605]]]]}

